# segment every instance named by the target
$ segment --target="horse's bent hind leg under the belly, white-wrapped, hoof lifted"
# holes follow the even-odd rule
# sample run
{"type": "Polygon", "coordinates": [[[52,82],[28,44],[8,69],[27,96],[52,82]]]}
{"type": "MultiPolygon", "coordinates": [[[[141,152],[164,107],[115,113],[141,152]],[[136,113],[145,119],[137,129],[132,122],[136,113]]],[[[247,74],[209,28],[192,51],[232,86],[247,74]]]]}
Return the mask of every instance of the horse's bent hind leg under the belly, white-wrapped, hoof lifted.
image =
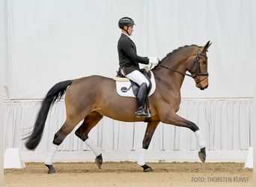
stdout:
{"type": "Polygon", "coordinates": [[[97,147],[96,144],[94,144],[93,141],[88,137],[88,133],[91,131],[91,129],[97,125],[97,123],[103,118],[103,115],[97,113],[96,111],[91,112],[85,117],[85,120],[83,121],[82,125],[79,126],[79,129],[76,130],[76,135],[82,139],[82,141],[85,141],[85,144],[90,147],[90,149],[94,152],[96,159],[95,162],[97,166],[100,168],[103,164],[103,156],[100,150],[100,147],[97,147]]]}

